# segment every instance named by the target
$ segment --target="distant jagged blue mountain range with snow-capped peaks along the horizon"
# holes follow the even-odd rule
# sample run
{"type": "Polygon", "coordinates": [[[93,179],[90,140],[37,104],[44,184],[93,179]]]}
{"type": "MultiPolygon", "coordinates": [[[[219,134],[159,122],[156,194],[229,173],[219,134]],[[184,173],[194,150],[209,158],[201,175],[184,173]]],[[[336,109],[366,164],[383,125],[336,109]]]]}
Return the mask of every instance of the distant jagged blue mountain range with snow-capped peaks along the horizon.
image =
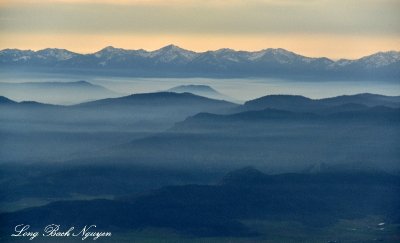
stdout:
{"type": "Polygon", "coordinates": [[[284,49],[193,52],[169,45],[159,50],[106,47],[91,54],[65,49],[0,51],[0,69],[110,73],[128,76],[294,77],[400,80],[400,52],[378,52],[356,60],[311,58],[284,49]]]}

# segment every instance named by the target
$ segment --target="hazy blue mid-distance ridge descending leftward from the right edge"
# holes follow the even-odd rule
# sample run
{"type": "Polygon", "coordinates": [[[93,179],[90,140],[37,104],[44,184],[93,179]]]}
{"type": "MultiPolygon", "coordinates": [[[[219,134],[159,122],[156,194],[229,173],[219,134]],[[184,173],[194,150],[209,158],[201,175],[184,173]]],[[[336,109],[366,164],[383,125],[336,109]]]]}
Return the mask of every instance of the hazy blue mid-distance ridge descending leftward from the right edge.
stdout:
{"type": "Polygon", "coordinates": [[[400,110],[353,107],[321,113],[276,109],[199,113],[166,132],[132,140],[103,151],[102,158],[86,160],[177,169],[186,168],[190,161],[191,169],[213,171],[255,165],[279,173],[298,172],[320,161],[329,166],[354,163],[360,170],[398,170],[400,110]]]}

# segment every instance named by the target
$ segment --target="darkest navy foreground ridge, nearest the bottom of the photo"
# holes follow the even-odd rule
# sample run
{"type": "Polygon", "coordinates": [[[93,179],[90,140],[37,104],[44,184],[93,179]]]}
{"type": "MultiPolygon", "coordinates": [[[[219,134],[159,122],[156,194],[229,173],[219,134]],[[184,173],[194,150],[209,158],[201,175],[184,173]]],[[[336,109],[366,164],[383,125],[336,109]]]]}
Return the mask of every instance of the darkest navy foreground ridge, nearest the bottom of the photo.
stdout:
{"type": "Polygon", "coordinates": [[[115,200],[60,201],[1,214],[2,230],[24,222],[161,227],[195,236],[255,236],[243,220],[292,220],[326,227],[340,219],[382,215],[400,223],[400,177],[383,172],[267,175],[247,167],[216,185],[167,186],[115,200]]]}

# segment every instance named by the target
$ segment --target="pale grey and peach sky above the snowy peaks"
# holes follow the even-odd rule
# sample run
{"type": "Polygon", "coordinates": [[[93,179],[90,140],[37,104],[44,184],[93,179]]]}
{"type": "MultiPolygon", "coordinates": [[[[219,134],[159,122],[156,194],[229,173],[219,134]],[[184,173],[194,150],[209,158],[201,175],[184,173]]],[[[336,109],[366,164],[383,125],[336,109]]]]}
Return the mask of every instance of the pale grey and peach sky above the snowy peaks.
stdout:
{"type": "Polygon", "coordinates": [[[400,50],[400,0],[0,0],[0,49],[400,50]]]}

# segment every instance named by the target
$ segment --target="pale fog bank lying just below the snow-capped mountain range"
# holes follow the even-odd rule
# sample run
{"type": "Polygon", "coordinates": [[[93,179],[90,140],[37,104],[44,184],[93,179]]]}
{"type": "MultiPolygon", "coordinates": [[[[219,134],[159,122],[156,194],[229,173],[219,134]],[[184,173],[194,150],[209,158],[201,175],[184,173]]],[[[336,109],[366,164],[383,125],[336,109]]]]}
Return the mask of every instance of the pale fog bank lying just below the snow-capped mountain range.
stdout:
{"type": "MultiPolygon", "coordinates": [[[[40,74],[40,73],[11,73],[0,74],[1,83],[31,83],[31,82],[76,82],[87,81],[93,85],[101,85],[115,96],[123,96],[134,93],[149,93],[165,91],[179,85],[208,85],[221,93],[232,97],[236,102],[255,99],[269,94],[294,94],[310,98],[326,98],[345,94],[377,93],[396,96],[400,94],[400,84],[396,81],[385,80],[331,80],[331,81],[307,81],[296,79],[274,78],[137,78],[137,77],[107,77],[73,74],[40,74]]],[[[0,86],[1,87],[1,86],[0,86]]],[[[32,92],[32,91],[31,91],[32,92]]],[[[29,93],[28,93],[29,94],[29,93]]],[[[17,101],[29,100],[24,97],[27,93],[1,88],[0,95],[13,98],[17,101]]],[[[110,96],[110,94],[108,94],[110,96]]],[[[49,96],[47,94],[47,96],[49,96]]],[[[54,94],[53,96],[59,96],[54,94]]],[[[93,100],[99,96],[70,95],[68,99],[47,98],[40,93],[36,96],[43,103],[75,104],[93,100]],[[55,102],[52,102],[55,101],[55,102]]],[[[104,94],[103,94],[103,97],[104,94]]]]}

